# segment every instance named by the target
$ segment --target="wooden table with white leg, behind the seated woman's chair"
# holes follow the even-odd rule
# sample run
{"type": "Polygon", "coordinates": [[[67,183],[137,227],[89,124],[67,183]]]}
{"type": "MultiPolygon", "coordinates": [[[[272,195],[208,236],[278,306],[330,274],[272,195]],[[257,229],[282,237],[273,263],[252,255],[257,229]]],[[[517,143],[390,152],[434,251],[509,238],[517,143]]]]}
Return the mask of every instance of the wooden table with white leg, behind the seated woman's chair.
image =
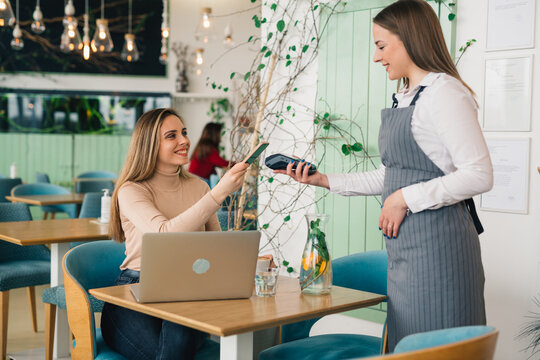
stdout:
{"type": "MultiPolygon", "coordinates": [[[[0,222],[0,240],[13,244],[51,245],[51,286],[62,285],[62,258],[72,241],[110,239],[108,224],[96,219],[54,219],[34,221],[0,222]]],[[[56,311],[54,358],[69,356],[69,326],[67,312],[56,311]]]]}

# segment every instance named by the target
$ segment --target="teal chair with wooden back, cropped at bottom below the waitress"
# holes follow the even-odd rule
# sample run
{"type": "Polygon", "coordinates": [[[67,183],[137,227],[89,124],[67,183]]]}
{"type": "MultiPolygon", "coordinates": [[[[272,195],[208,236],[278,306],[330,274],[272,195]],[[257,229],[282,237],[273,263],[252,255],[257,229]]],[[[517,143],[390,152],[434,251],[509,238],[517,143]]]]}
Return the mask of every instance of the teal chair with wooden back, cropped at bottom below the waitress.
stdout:
{"type": "Polygon", "coordinates": [[[401,339],[393,354],[369,360],[492,360],[498,334],[491,326],[427,331],[401,339]]]}

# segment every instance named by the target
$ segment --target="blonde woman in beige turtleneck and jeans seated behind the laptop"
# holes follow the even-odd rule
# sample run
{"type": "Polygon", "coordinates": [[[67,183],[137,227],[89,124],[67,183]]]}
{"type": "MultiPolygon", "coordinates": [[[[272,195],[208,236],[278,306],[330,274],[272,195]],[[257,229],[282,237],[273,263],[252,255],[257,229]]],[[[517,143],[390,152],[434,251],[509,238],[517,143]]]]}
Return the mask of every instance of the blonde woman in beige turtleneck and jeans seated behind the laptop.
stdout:
{"type": "MultiPolygon", "coordinates": [[[[184,121],[172,109],[148,111],[137,121],[111,204],[110,232],[126,242],[117,285],[139,282],[144,233],[219,231],[216,211],[240,188],[248,165],[237,164],[210,190],[182,167],[189,146],[184,121]]],[[[112,304],[103,308],[101,329],[128,359],[192,359],[204,340],[200,331],[112,304]]]]}

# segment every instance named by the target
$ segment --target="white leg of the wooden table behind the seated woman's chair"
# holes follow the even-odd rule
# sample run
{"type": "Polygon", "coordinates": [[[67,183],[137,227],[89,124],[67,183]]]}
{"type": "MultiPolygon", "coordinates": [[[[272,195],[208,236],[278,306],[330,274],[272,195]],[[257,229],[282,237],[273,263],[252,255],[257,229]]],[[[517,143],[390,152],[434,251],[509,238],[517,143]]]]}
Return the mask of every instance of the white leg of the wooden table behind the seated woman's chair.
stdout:
{"type": "MultiPolygon", "coordinates": [[[[51,244],[51,287],[62,285],[62,259],[69,250],[69,243],[51,244]]],[[[69,325],[66,310],[56,309],[53,358],[69,357],[69,325]]]]}

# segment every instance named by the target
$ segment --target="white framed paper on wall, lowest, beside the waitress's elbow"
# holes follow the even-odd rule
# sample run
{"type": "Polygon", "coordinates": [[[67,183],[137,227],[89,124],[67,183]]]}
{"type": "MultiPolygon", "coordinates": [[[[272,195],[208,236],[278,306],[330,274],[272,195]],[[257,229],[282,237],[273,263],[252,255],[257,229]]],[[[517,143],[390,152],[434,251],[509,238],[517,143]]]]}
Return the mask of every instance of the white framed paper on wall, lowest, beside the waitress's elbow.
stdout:
{"type": "Polygon", "coordinates": [[[486,138],[493,188],[480,195],[480,209],[528,214],[530,138],[486,138]]]}

